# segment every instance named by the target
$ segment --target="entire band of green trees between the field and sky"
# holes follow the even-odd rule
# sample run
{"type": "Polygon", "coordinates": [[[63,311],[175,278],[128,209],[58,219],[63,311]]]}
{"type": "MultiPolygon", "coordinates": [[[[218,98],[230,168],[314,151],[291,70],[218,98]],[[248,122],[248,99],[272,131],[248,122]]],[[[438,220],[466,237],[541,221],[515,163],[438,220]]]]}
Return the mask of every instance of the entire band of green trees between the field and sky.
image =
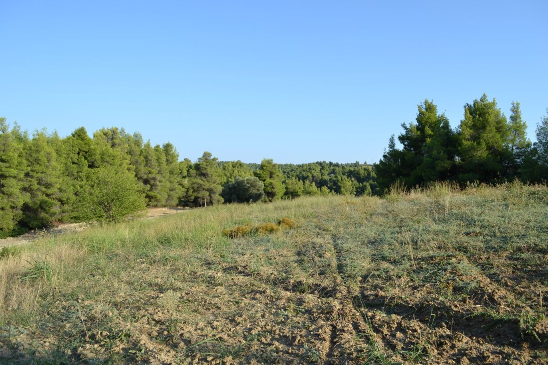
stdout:
{"type": "MultiPolygon", "coordinates": [[[[204,152],[180,160],[172,143],[152,146],[139,133],[82,127],[60,137],[29,134],[0,118],[0,238],[60,222],[117,221],[145,207],[199,207],[273,201],[301,195],[383,195],[390,187],[435,181],[544,182],[548,177],[548,117],[526,135],[520,103],[506,118],[486,95],[464,106],[450,128],[425,100],[415,123],[402,124],[378,164],[260,164],[218,161],[204,152]]],[[[548,109],[547,109],[548,111],[548,109]]]]}

